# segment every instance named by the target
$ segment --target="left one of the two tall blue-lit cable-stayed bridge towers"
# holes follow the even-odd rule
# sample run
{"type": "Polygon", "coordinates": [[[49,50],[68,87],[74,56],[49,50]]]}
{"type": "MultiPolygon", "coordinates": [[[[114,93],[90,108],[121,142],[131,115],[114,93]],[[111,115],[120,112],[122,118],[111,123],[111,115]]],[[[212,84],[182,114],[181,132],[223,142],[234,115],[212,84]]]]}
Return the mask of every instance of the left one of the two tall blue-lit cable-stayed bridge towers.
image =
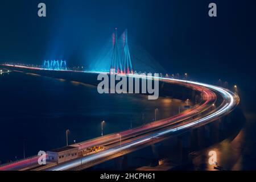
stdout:
{"type": "Polygon", "coordinates": [[[114,48],[113,48],[113,55],[110,65],[110,74],[112,73],[122,73],[122,65],[121,65],[121,59],[118,52],[118,46],[117,46],[117,28],[115,28],[115,34],[114,34],[114,48]]]}

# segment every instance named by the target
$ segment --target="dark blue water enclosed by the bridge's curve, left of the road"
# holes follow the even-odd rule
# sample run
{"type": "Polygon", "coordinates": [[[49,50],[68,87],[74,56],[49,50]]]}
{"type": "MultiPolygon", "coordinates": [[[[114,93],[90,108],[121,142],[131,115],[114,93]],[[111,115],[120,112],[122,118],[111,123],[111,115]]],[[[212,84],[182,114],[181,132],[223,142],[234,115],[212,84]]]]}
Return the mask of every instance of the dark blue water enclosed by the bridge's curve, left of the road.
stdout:
{"type": "Polygon", "coordinates": [[[170,117],[184,101],[133,94],[98,94],[97,88],[78,82],[11,72],[0,76],[0,160],[36,155],[39,150],[99,137],[104,134],[151,122],[158,108],[158,119],[170,117]],[[144,119],[142,115],[144,114],[144,119]]]}

